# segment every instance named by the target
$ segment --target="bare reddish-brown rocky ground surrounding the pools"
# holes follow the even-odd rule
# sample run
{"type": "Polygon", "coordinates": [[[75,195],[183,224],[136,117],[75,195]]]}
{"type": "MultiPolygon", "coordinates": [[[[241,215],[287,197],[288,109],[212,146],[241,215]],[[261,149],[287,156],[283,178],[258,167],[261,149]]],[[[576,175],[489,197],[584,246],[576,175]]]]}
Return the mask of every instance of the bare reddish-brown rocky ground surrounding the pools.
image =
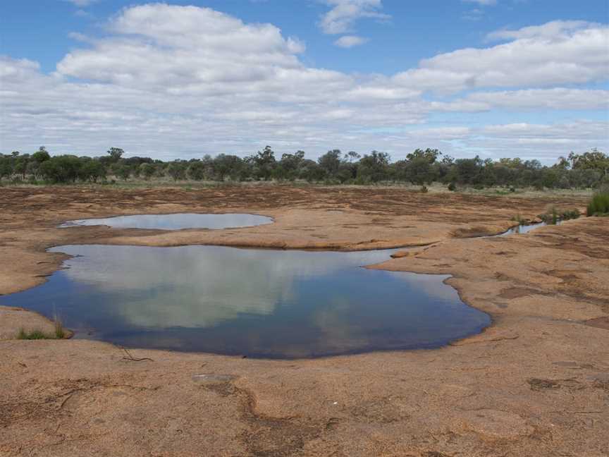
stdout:
{"type": "Polygon", "coordinates": [[[0,293],[54,272],[63,257],[44,251],[52,245],[425,245],[372,267],[452,274],[448,283],[493,318],[482,334],[432,351],[271,361],[18,341],[18,327],[44,319],[0,308],[0,456],[608,456],[609,219],[467,238],[550,204],[584,201],[391,188],[0,188],[0,293]],[[54,228],[240,211],[276,222],[54,228]]]}

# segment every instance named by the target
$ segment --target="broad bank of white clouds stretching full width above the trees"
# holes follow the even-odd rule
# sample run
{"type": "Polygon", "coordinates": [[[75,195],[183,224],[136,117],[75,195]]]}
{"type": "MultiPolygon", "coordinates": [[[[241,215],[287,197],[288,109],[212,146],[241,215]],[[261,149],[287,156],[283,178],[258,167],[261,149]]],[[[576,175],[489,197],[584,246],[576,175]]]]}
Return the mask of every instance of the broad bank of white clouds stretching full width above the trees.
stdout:
{"type": "Polygon", "coordinates": [[[72,35],[78,47],[54,73],[0,58],[0,150],[44,144],[99,155],[116,145],[173,159],[245,155],[269,144],[310,157],[340,147],[399,159],[429,146],[456,156],[484,148],[493,157],[555,159],[606,148],[600,121],[429,124],[439,112],[606,109],[608,91],[574,85],[607,79],[607,27],[538,27],[544,32],[439,54],[397,75],[352,75],[306,66],[305,45],[271,24],[195,6],[125,8],[104,37],[72,35]]]}

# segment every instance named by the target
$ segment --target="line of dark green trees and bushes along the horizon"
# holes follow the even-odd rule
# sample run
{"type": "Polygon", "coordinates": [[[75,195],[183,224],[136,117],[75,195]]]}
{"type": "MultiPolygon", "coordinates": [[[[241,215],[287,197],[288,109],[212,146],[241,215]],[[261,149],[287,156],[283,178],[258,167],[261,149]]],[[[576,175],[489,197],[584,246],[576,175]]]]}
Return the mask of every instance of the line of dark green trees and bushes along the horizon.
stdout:
{"type": "Polygon", "coordinates": [[[426,185],[440,182],[457,186],[534,188],[597,188],[609,183],[609,156],[596,149],[560,157],[552,166],[518,158],[453,159],[437,149],[417,149],[406,159],[392,162],[389,154],[372,151],[363,156],[340,150],[326,152],[316,161],[305,152],[276,157],[270,146],[249,157],[219,154],[200,159],[163,162],[150,157],[123,157],[111,147],[101,157],[51,156],[44,146],[33,154],[0,154],[0,180],[13,183],[108,183],[139,178],[175,181],[307,181],[326,184],[387,182],[426,185]]]}

